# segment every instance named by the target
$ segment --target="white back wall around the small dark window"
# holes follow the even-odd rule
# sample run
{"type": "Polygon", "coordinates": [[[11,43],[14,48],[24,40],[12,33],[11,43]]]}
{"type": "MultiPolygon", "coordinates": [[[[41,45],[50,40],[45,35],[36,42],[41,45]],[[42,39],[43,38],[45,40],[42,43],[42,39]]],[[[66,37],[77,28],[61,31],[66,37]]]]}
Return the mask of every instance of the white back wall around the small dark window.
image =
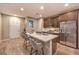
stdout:
{"type": "Polygon", "coordinates": [[[43,28],[43,19],[29,19],[29,18],[26,18],[26,30],[29,32],[31,31],[32,29],[34,31],[41,31],[43,28]],[[28,22],[29,20],[32,20],[33,21],[33,28],[29,28],[29,25],[28,25],[28,22]]]}

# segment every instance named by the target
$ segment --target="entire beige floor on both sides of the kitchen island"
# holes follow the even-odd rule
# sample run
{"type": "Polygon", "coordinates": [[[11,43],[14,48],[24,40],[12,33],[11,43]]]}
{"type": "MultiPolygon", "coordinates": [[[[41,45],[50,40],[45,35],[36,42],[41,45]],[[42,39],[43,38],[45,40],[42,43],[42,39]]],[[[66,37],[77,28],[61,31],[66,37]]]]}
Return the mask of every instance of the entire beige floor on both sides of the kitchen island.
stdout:
{"type": "MultiPolygon", "coordinates": [[[[30,47],[25,48],[24,39],[8,39],[0,42],[0,55],[29,55],[30,47]]],[[[79,55],[79,49],[57,44],[55,55],[79,55]]]]}

